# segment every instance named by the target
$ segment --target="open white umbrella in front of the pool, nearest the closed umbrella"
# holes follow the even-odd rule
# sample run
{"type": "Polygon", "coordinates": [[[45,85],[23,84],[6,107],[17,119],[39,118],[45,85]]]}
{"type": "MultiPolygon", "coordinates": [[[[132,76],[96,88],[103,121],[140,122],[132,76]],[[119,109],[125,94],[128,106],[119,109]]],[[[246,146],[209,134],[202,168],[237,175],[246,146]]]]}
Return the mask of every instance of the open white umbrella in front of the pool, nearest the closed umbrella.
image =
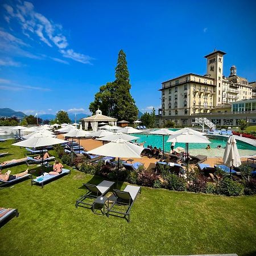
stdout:
{"type": "Polygon", "coordinates": [[[185,152],[186,152],[186,160],[188,162],[188,143],[211,143],[209,139],[203,135],[193,134],[191,131],[184,131],[180,134],[171,135],[167,142],[180,142],[186,143],[185,152]]]}

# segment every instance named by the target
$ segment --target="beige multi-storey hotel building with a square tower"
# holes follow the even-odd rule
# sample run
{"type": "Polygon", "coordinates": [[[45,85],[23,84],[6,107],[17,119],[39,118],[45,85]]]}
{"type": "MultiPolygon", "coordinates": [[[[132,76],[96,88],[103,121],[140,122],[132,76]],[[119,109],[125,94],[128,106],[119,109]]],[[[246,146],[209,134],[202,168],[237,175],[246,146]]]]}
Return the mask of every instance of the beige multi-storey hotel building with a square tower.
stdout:
{"type": "Polygon", "coordinates": [[[254,111],[232,112],[233,102],[253,98],[253,86],[237,75],[235,66],[230,68],[228,77],[224,76],[225,54],[214,50],[204,56],[207,59],[204,76],[188,73],[162,82],[162,108],[156,117],[157,126],[162,127],[167,121],[192,125],[196,117],[207,117],[216,125],[231,126],[237,125],[238,119],[256,119],[254,111]]]}

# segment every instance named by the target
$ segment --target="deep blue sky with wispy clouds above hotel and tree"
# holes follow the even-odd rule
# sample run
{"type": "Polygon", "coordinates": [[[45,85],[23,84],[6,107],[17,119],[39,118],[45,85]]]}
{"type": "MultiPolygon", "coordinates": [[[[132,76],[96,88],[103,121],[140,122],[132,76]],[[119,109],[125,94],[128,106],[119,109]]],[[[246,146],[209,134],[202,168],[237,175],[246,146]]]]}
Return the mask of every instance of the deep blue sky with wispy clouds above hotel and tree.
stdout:
{"type": "Polygon", "coordinates": [[[161,82],[206,72],[225,51],[224,73],[256,80],[255,1],[1,1],[0,108],[27,114],[89,113],[114,80],[123,49],[131,94],[144,112],[161,82]]]}

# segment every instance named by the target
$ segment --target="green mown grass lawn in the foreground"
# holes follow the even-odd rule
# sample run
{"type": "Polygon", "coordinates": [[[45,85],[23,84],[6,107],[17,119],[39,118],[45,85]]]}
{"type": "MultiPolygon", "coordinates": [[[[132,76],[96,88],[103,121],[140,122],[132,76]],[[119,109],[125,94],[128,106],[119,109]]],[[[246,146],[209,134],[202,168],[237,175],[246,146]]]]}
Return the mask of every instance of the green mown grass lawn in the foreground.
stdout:
{"type": "MultiPolygon", "coordinates": [[[[24,149],[0,144],[0,152],[24,149]],[[3,149],[5,147],[5,149],[3,149]]],[[[51,152],[53,153],[53,152],[51,152]]],[[[26,170],[12,167],[12,173],[26,170]]],[[[34,168],[34,167],[30,167],[34,168]]],[[[30,180],[0,190],[1,207],[20,215],[0,229],[1,255],[256,254],[256,197],[224,197],[142,188],[131,222],[75,208],[82,183],[101,179],[72,170],[44,188],[30,180]]],[[[122,188],[126,184],[121,184],[122,188]]]]}

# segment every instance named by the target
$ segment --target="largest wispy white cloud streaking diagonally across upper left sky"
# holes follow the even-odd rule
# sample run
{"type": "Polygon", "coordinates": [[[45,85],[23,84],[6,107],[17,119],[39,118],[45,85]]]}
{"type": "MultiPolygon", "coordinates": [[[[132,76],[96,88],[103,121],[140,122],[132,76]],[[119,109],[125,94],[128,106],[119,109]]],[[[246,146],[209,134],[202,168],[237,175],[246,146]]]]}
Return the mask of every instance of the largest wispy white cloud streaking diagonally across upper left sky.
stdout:
{"type": "Polygon", "coordinates": [[[31,38],[30,34],[35,34],[47,46],[52,47],[52,44],[54,44],[63,57],[80,63],[90,64],[91,57],[67,48],[68,42],[67,38],[63,35],[62,26],[53,23],[46,16],[37,13],[32,3],[25,1],[13,6],[5,4],[3,7],[6,10],[6,21],[9,23],[10,19],[18,20],[23,34],[28,36],[28,38],[31,38]]]}

